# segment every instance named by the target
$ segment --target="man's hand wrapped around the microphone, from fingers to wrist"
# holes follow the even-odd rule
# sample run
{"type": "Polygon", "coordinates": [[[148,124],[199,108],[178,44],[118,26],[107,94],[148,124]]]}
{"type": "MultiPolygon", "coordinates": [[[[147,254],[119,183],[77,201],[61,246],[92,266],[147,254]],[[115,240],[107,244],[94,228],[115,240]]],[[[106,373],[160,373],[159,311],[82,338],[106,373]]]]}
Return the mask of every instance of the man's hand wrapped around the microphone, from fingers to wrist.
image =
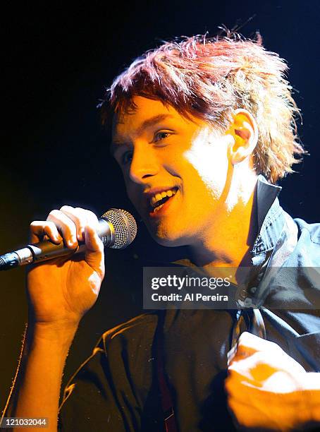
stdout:
{"type": "Polygon", "coordinates": [[[47,236],[54,243],[64,241],[70,249],[85,241],[83,256],[61,257],[35,265],[27,277],[30,319],[35,325],[68,328],[91,308],[104,278],[104,246],[97,235],[94,213],[64,205],[50,212],[46,221],[32,222],[31,241],[47,236]]]}

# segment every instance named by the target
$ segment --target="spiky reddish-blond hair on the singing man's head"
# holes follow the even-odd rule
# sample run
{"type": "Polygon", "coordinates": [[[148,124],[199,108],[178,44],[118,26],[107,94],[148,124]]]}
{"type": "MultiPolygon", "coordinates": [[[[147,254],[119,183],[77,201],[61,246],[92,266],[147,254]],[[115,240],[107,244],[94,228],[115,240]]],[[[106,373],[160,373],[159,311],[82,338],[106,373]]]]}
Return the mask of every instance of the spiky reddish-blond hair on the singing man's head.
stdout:
{"type": "MultiPolygon", "coordinates": [[[[275,183],[293,172],[304,150],[297,138],[299,109],[285,79],[288,66],[257,40],[228,33],[207,38],[183,37],[146,52],[119,75],[107,90],[112,112],[135,109],[141,95],[170,104],[226,131],[234,109],[245,108],[257,121],[259,140],[254,168],[275,183]]],[[[102,110],[106,121],[108,109],[102,110]]]]}

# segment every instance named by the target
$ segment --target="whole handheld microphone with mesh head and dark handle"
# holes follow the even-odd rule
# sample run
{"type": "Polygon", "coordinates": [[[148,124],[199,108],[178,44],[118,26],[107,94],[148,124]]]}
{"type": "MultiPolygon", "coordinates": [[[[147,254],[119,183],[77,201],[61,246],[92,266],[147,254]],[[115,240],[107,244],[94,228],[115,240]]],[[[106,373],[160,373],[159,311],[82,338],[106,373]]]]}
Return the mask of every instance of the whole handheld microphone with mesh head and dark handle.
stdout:
{"type": "MultiPolygon", "coordinates": [[[[124,249],[133,242],[137,234],[135,218],[129,212],[119,208],[111,208],[99,218],[97,234],[104,247],[124,249]]],[[[66,248],[63,241],[53,244],[49,240],[27,244],[22,249],[5,253],[0,256],[0,270],[10,270],[19,265],[39,263],[59,256],[72,256],[85,251],[85,242],[79,241],[75,249],[66,248]]]]}

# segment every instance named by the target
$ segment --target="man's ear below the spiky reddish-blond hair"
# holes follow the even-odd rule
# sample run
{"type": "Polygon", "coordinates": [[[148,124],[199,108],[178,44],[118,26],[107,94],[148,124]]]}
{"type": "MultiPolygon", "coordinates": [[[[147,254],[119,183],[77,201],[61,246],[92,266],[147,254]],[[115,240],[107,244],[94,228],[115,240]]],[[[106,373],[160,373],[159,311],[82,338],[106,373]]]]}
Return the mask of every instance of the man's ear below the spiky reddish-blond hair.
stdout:
{"type": "Polygon", "coordinates": [[[230,144],[230,162],[236,165],[252,155],[258,142],[258,127],[254,116],[246,109],[236,109],[228,133],[233,136],[230,144]]]}

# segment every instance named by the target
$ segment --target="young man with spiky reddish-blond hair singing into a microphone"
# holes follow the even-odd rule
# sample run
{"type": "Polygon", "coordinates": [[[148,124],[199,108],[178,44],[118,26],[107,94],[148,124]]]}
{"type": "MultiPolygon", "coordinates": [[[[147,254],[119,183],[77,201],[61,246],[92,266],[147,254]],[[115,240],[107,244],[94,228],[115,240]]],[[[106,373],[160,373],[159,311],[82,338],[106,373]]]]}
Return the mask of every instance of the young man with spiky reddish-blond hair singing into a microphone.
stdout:
{"type": "Polygon", "coordinates": [[[263,295],[268,306],[155,311],[121,324],[101,337],[59,410],[66,356],[105,268],[97,217],[53,210],[32,222],[32,242],[84,241],[86,251],[28,273],[30,320],[11,416],[43,416],[49,431],[77,432],[319,426],[320,318],[310,306],[319,304],[319,280],[306,268],[320,267],[320,225],[293,220],[277,198],[276,182],[304,153],[286,70],[259,36],[183,38],[133,61],[101,106],[152,238],[187,246],[183,265],[209,274],[250,267],[243,299],[263,295]],[[271,267],[294,269],[292,292],[262,289],[271,267]],[[251,333],[259,316],[265,340],[251,333]]]}

